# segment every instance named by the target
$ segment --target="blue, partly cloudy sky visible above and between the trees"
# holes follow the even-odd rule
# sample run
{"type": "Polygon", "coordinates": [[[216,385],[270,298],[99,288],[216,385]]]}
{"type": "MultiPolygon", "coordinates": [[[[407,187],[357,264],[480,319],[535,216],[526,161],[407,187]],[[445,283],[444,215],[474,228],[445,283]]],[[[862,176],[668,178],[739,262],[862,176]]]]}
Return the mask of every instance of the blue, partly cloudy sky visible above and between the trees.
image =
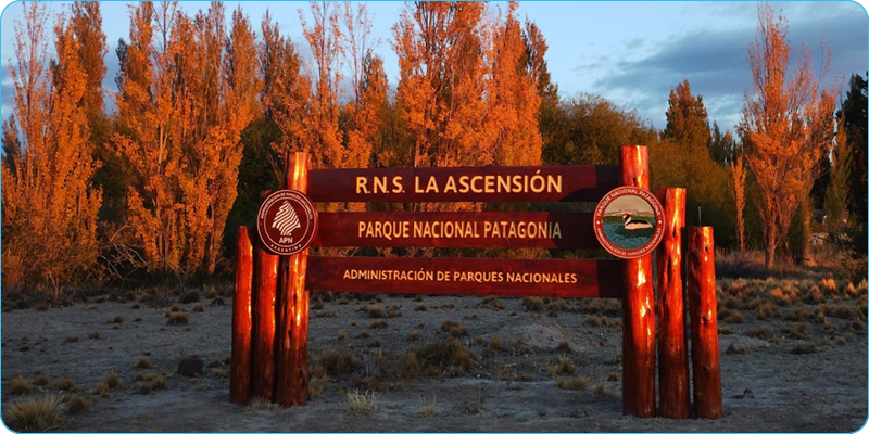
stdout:
{"type": "MultiPolygon", "coordinates": [[[[0,0],[0,3],[2,0],[0,0]]],[[[60,12],[66,3],[51,3],[60,12]]],[[[207,2],[181,1],[188,12],[207,8],[207,2]]],[[[259,21],[266,8],[280,23],[281,31],[310,53],[302,37],[298,10],[306,2],[229,1],[227,10],[241,4],[259,21]]],[[[496,7],[503,3],[493,3],[496,7]]],[[[789,21],[789,40],[799,51],[806,44],[815,64],[820,41],[833,52],[829,79],[847,78],[867,72],[867,12],[853,1],[781,1],[771,3],[789,21]]],[[[127,3],[103,2],[109,72],[104,88],[116,90],[115,48],[128,38],[127,3]]],[[[392,51],[392,25],[403,2],[369,2],[374,13],[374,36],[380,39],[376,53],[383,58],[390,86],[399,77],[398,56],[392,51]]],[[[751,86],[747,47],[754,41],[757,3],[753,1],[580,1],[522,2],[519,16],[534,21],[550,46],[549,71],[562,98],[591,93],[606,98],[638,114],[654,127],[666,125],[667,99],[671,88],[688,79],[693,94],[703,97],[709,120],[733,129],[740,120],[745,90],[751,86]]],[[[12,84],[8,62],[14,43],[14,22],[22,4],[9,4],[0,16],[0,112],[11,113],[12,84]]],[[[227,14],[229,16],[229,14],[227,14]]],[[[795,58],[796,55],[792,55],[795,58]]]]}

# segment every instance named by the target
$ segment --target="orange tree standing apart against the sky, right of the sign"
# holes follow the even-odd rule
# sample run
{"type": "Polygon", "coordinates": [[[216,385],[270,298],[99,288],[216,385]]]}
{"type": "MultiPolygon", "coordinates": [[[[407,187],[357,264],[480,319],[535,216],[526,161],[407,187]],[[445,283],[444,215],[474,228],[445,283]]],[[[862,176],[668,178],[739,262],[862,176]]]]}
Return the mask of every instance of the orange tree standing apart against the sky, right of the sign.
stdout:
{"type": "Polygon", "coordinates": [[[830,64],[826,49],[818,77],[805,46],[789,74],[786,21],[767,3],[758,5],[757,15],[757,39],[748,48],[753,87],[745,93],[740,130],[758,183],[765,264],[772,268],[802,192],[811,188],[821,156],[830,152],[839,85],[822,87],[830,64]]]}

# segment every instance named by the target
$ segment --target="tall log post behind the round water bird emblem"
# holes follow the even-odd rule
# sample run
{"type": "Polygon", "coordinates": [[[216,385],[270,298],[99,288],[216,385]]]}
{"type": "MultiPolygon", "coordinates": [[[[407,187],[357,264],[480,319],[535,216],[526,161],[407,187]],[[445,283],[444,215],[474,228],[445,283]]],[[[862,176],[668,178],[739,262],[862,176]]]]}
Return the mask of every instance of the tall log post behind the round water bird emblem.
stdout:
{"type": "MultiPolygon", "coordinates": [[[[648,189],[648,149],[621,146],[619,180],[622,186],[648,189]]],[[[621,299],[622,412],[640,418],[655,416],[655,311],[652,255],[625,260],[621,299]]]]}

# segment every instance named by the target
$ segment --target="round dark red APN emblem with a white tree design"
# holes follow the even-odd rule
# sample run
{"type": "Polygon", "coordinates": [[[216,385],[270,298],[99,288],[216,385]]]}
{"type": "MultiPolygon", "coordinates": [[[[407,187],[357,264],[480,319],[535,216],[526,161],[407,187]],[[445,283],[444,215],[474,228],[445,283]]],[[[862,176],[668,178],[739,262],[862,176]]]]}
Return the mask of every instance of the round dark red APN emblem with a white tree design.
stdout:
{"type": "Polygon", "coordinates": [[[304,193],[278,190],[266,196],[256,215],[256,232],[275,255],[294,255],[311,245],[317,232],[317,210],[304,193]]]}

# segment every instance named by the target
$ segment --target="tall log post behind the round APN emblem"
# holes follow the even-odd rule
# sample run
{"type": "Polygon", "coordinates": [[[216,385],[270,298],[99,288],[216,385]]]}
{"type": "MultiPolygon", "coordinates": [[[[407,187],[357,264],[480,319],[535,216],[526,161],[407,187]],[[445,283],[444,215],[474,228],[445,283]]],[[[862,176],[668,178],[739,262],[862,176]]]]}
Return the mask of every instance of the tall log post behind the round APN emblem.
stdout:
{"type": "MultiPolygon", "coordinates": [[[[285,167],[287,189],[307,193],[311,155],[295,152],[288,155],[285,167]]],[[[308,293],[305,290],[307,250],[281,257],[281,288],[278,297],[277,396],[282,406],[307,403],[307,315],[308,293]]]]}

